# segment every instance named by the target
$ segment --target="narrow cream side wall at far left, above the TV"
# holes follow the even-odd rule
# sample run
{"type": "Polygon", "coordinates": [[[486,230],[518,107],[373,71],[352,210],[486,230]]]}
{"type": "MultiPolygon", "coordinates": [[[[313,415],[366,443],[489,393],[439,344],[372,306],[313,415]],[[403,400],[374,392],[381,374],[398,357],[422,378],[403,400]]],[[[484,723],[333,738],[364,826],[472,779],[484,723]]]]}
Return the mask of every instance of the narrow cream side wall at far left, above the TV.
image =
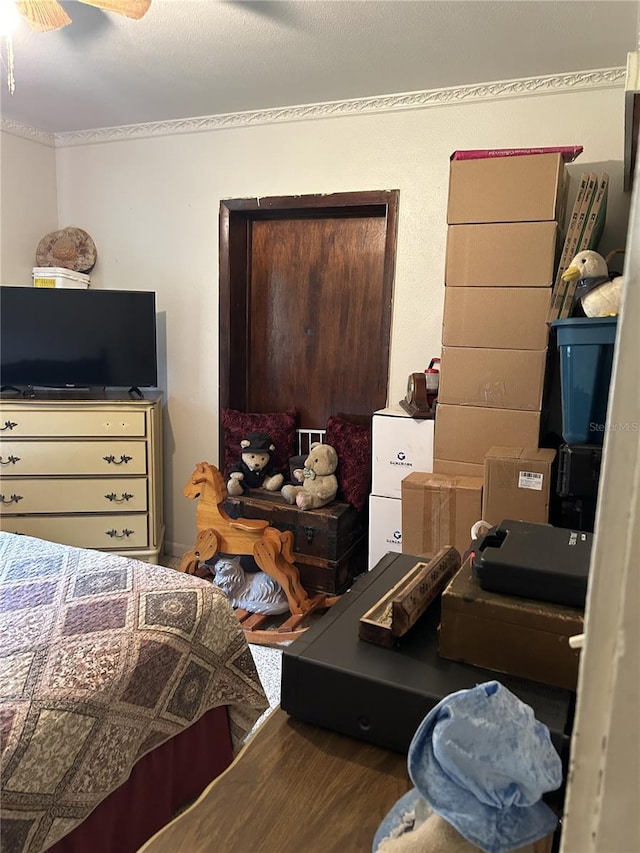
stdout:
{"type": "Polygon", "coordinates": [[[51,144],[0,133],[0,283],[31,284],[36,248],[58,228],[51,144]]]}

